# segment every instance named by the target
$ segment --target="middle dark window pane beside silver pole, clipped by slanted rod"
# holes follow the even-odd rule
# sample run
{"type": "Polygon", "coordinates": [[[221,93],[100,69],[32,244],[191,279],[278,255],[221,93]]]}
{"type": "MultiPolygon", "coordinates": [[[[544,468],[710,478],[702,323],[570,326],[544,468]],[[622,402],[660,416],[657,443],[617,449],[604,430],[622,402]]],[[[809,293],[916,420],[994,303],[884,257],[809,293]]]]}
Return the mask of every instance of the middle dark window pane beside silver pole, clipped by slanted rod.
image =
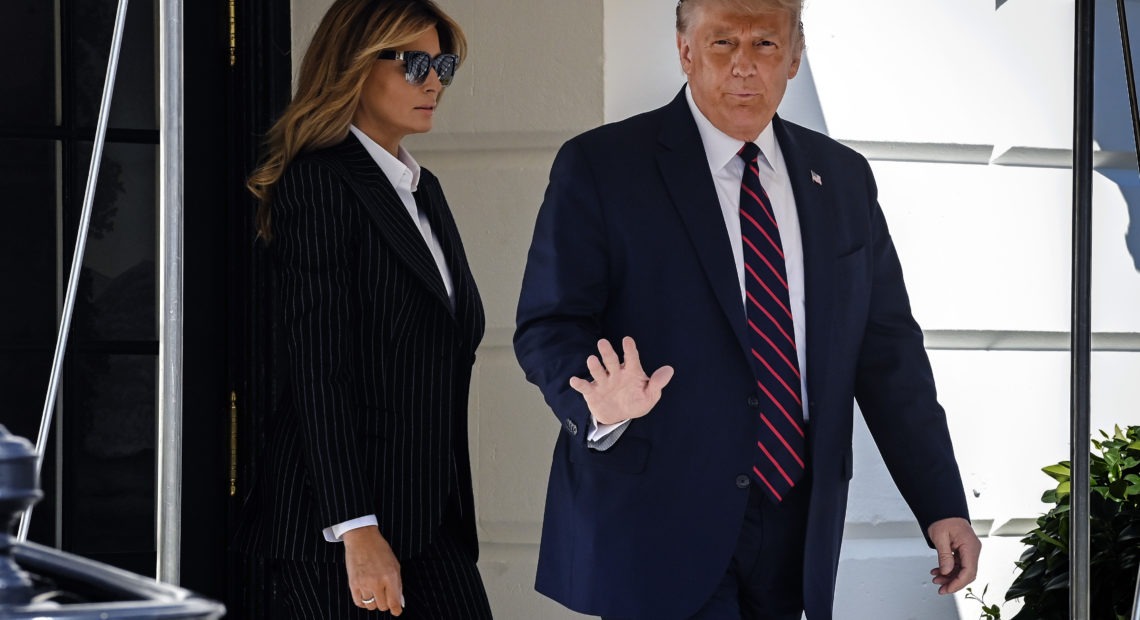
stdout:
{"type": "MultiPolygon", "coordinates": [[[[90,142],[79,142],[66,207],[64,255],[74,247],[90,142]]],[[[103,152],[72,333],[84,340],[155,340],[157,149],[108,144],[103,152]]]]}

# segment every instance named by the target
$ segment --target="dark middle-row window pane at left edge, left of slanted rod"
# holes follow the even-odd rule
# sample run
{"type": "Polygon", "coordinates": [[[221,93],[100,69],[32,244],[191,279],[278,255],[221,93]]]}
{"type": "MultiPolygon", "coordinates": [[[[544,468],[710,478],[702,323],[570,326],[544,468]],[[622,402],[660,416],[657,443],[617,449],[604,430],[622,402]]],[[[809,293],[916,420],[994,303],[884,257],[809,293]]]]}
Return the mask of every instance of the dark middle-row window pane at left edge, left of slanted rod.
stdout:
{"type": "Polygon", "coordinates": [[[0,140],[0,346],[55,342],[56,168],[51,140],[0,140]]]}

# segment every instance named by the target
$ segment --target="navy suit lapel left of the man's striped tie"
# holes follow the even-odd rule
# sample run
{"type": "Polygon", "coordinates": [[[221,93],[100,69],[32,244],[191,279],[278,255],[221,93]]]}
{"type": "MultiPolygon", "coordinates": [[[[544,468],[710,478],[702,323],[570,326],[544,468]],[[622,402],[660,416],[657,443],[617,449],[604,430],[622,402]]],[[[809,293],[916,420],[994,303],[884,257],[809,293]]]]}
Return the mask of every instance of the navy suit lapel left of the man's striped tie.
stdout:
{"type": "Polygon", "coordinates": [[[657,157],[661,178],[674,207],[685,222],[685,230],[697,248],[701,267],[712,285],[725,318],[736,334],[741,353],[747,358],[747,321],[735,259],[732,256],[724,215],[720,214],[720,201],[709,174],[705,146],[685,100],[684,89],[666,106],[665,114],[659,137],[661,149],[657,157]]]}

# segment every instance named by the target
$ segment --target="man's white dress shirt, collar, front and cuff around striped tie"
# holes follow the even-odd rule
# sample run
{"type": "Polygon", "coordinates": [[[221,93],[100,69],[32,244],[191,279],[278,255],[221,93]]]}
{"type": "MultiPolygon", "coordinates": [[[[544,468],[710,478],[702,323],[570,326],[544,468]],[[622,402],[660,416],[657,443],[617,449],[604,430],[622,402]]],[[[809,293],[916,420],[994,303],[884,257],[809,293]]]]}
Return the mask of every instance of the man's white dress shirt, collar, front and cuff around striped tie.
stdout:
{"type": "MultiPolygon", "coordinates": [[[[744,177],[744,161],[736,153],[744,144],[717,129],[709,121],[697,103],[689,87],[685,87],[685,100],[697,121],[697,130],[701,134],[705,156],[708,158],[712,185],[716,186],[717,198],[720,202],[720,214],[728,230],[732,244],[732,258],[736,262],[736,279],[740,283],[740,302],[746,302],[744,292],[744,251],[740,236],[740,185],[744,177]]],[[[776,226],[780,227],[780,245],[783,246],[784,268],[788,272],[788,297],[791,303],[791,320],[796,334],[796,353],[799,358],[799,390],[804,403],[804,419],[807,419],[807,319],[804,310],[804,242],[799,232],[799,215],[796,211],[796,196],[792,194],[791,179],[788,178],[788,166],[784,164],[780,142],[776,141],[772,123],[764,128],[756,138],[760,148],[757,168],[760,171],[760,185],[767,191],[775,211],[776,226]]],[[[617,424],[597,424],[591,416],[589,433],[586,435],[592,443],[601,442],[606,435],[629,421],[617,424]]],[[[612,444],[606,442],[605,447],[612,444]]],[[[597,446],[595,446],[597,447],[597,446]]]]}

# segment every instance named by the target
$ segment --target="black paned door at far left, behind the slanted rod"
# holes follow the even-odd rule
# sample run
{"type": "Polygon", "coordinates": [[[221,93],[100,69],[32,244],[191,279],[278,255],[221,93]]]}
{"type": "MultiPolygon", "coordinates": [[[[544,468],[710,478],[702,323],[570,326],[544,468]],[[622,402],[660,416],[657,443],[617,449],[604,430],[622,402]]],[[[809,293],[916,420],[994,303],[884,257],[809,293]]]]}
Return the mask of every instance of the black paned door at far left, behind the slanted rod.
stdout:
{"type": "MultiPolygon", "coordinates": [[[[114,2],[0,3],[0,382],[35,438],[75,244],[114,2]]],[[[155,5],[133,3],[34,540],[154,572],[157,108],[155,5]]]]}

